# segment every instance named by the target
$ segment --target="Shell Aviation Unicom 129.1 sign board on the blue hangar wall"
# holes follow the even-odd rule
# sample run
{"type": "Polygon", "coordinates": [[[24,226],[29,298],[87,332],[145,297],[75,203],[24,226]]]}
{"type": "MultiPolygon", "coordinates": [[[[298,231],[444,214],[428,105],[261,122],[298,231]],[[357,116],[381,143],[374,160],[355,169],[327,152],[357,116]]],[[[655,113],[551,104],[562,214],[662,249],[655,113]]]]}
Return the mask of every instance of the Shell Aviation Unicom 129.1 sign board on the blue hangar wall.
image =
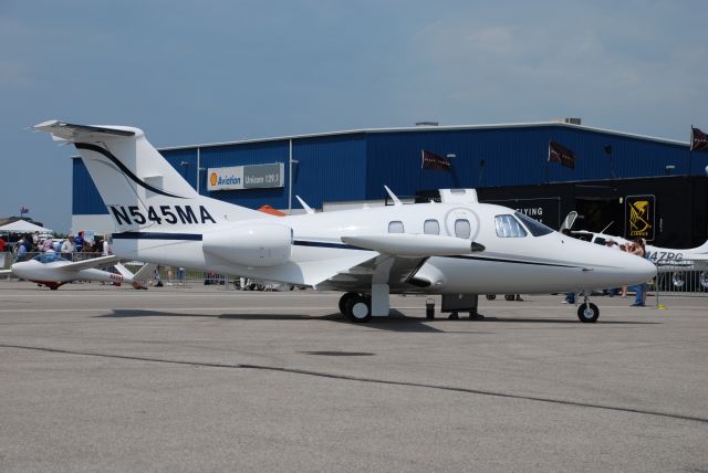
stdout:
{"type": "Polygon", "coordinates": [[[284,167],[282,162],[273,162],[268,165],[209,168],[207,171],[207,189],[214,191],[283,187],[284,167]]]}

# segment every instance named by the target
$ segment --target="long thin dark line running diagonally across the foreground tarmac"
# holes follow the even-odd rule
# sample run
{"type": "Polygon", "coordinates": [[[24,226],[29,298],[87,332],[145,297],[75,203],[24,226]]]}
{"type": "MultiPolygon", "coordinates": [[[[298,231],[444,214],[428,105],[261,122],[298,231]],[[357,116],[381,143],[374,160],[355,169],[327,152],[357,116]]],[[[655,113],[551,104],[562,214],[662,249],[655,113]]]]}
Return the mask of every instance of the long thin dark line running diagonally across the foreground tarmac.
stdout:
{"type": "Polygon", "coordinates": [[[543,403],[550,403],[550,404],[570,406],[570,407],[587,408],[587,409],[600,409],[600,410],[625,412],[625,413],[637,413],[643,416],[654,416],[654,417],[663,417],[663,418],[675,419],[675,420],[687,420],[687,421],[694,421],[694,422],[700,422],[700,423],[708,423],[708,418],[676,414],[670,412],[623,408],[623,407],[607,406],[607,404],[593,404],[590,402],[542,398],[538,396],[513,395],[513,393],[502,392],[502,391],[487,391],[482,389],[459,388],[459,387],[444,386],[444,385],[391,381],[386,379],[365,378],[365,377],[348,376],[348,375],[335,375],[335,374],[325,372],[325,371],[312,371],[312,370],[296,369],[296,368],[279,368],[279,367],[266,366],[266,365],[248,365],[248,364],[232,365],[232,364],[221,364],[221,362],[184,361],[184,360],[171,360],[171,359],[138,357],[138,356],[127,356],[127,355],[111,355],[111,354],[91,353],[91,351],[64,350],[60,348],[32,347],[32,346],[23,346],[23,345],[0,344],[0,348],[13,348],[13,349],[23,349],[23,350],[32,350],[32,351],[44,351],[44,353],[53,353],[53,354],[62,354],[62,355],[77,355],[77,356],[88,356],[88,357],[98,357],[98,358],[113,358],[113,359],[123,359],[123,360],[131,360],[131,361],[160,362],[160,364],[167,364],[167,365],[188,365],[192,367],[205,367],[205,368],[253,369],[253,370],[262,370],[262,371],[285,372],[290,375],[313,376],[319,378],[337,379],[342,381],[356,381],[356,382],[368,382],[374,385],[405,386],[410,388],[437,389],[441,391],[461,392],[466,395],[489,396],[489,397],[503,398],[503,399],[519,399],[519,400],[543,402],[543,403]]]}

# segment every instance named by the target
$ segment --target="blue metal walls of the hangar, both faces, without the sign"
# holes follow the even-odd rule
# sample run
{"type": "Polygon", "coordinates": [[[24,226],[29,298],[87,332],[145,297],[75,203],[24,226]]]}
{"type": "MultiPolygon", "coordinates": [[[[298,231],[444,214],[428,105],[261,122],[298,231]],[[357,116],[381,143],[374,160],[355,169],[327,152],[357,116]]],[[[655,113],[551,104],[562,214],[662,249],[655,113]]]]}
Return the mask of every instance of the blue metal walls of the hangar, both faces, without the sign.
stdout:
{"type": "MultiPolygon", "coordinates": [[[[688,170],[688,146],[641,137],[566,126],[500,126],[459,129],[412,129],[358,132],[330,136],[293,138],[293,207],[300,195],[312,207],[323,201],[381,199],[384,185],[399,196],[418,190],[449,187],[523,186],[546,182],[622,179],[675,175],[688,170]],[[549,140],[575,154],[575,169],[546,162],[549,140]],[[612,147],[612,156],[605,147],[612,147]],[[427,149],[454,154],[454,172],[420,169],[420,154],[427,149]]],[[[271,204],[288,208],[289,140],[202,146],[197,169],[197,148],[160,151],[202,195],[240,206],[271,204]],[[210,167],[284,164],[283,188],[207,191],[210,167]]],[[[702,175],[708,154],[694,154],[694,174],[702,175]],[[702,159],[702,160],[701,160],[702,159]]],[[[73,212],[106,213],[81,159],[73,160],[73,212]]]]}

